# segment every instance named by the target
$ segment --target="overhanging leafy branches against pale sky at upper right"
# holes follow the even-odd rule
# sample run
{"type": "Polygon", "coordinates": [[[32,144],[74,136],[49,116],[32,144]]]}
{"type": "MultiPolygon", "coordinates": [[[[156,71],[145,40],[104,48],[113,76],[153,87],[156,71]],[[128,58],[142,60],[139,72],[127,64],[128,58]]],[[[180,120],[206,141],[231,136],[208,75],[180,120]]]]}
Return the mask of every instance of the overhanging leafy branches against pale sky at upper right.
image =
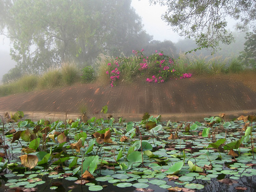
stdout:
{"type": "Polygon", "coordinates": [[[237,28],[256,31],[255,0],[150,0],[167,6],[162,16],[179,35],[194,38],[200,48],[230,44],[234,38],[227,30],[227,17],[238,20],[237,28]]]}

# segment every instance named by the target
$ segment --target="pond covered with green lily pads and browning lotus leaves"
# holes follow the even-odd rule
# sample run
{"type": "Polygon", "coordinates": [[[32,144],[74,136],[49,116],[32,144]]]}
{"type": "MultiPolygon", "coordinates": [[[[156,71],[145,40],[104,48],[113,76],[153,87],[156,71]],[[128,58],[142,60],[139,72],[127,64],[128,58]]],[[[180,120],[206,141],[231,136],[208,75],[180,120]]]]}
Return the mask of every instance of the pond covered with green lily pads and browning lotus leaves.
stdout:
{"type": "Polygon", "coordinates": [[[255,117],[1,121],[0,190],[256,191],[255,117]]]}

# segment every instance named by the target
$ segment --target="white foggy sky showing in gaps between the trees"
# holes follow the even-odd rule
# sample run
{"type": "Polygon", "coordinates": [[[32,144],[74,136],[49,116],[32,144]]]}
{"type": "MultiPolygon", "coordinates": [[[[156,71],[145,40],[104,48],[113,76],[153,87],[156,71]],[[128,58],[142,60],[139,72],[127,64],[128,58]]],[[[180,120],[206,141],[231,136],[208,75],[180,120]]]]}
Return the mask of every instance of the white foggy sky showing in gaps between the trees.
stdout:
{"type": "MultiPolygon", "coordinates": [[[[188,51],[188,48],[195,48],[196,45],[193,41],[184,40],[183,37],[180,37],[177,33],[173,32],[171,27],[162,21],[161,16],[166,11],[165,7],[159,5],[150,6],[148,0],[132,0],[131,7],[133,7],[135,12],[141,17],[143,29],[150,35],[153,35],[153,40],[161,42],[165,40],[171,41],[175,43],[174,46],[177,52],[188,51]]],[[[234,22],[232,20],[229,20],[228,27],[230,30],[234,30],[234,22]]],[[[232,48],[237,48],[234,50],[235,54],[243,50],[243,43],[245,40],[241,40],[241,36],[244,36],[244,33],[240,35],[236,33],[235,37],[239,38],[239,43],[230,45],[232,48]]],[[[0,81],[3,78],[3,75],[16,65],[16,62],[11,59],[10,48],[11,45],[9,39],[0,35],[0,81]]],[[[224,49],[229,50],[229,48],[225,46],[224,49]]],[[[204,54],[210,54],[210,52],[205,50],[203,50],[203,52],[204,54]]],[[[222,53],[227,54],[225,51],[222,53]]]]}

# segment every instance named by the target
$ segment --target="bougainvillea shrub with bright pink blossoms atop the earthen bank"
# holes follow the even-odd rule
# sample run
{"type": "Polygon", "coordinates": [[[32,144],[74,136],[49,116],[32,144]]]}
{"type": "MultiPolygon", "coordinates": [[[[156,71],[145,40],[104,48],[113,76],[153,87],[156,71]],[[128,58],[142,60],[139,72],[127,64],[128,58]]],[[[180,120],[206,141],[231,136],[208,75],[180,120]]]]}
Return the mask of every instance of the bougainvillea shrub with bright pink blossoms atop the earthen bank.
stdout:
{"type": "Polygon", "coordinates": [[[157,51],[151,56],[144,56],[143,51],[132,50],[134,56],[117,57],[114,63],[107,63],[108,70],[105,73],[112,87],[117,85],[121,77],[122,81],[125,80],[125,76],[129,76],[130,81],[145,78],[148,83],[164,83],[172,78],[191,78],[191,73],[179,74],[176,71],[173,58],[157,51]]]}

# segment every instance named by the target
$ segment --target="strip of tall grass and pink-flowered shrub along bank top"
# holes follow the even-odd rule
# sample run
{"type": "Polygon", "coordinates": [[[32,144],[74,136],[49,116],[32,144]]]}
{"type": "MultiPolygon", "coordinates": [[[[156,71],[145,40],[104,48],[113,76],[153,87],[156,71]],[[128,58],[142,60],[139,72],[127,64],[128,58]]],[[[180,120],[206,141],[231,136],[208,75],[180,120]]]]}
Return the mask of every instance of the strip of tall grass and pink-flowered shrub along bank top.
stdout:
{"type": "Polygon", "coordinates": [[[133,51],[133,54],[117,58],[101,54],[95,61],[94,68],[86,66],[78,69],[75,64],[66,63],[60,68],[51,68],[40,76],[24,75],[16,82],[1,85],[0,96],[95,81],[114,87],[121,82],[164,83],[191,76],[242,81],[256,91],[256,71],[244,66],[235,57],[222,59],[220,56],[180,54],[179,58],[173,59],[161,52],[147,57],[143,55],[143,50],[133,51]]]}

